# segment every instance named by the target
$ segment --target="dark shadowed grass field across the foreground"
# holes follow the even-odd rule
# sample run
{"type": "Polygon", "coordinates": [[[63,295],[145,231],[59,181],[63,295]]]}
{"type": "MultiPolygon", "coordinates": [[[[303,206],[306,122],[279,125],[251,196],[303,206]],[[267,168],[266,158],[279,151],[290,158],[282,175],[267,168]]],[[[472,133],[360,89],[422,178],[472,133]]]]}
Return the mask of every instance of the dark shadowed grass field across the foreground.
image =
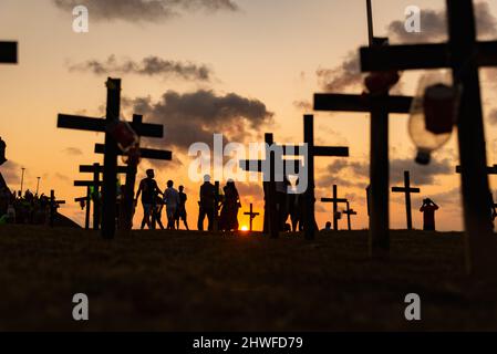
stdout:
{"type": "Polygon", "coordinates": [[[497,283],[464,274],[458,233],[392,232],[371,261],[366,231],[260,235],[0,227],[0,330],[497,330],[497,283]],[[72,319],[72,296],[90,321],[72,319]],[[422,299],[407,322],[404,298],[422,299]]]}

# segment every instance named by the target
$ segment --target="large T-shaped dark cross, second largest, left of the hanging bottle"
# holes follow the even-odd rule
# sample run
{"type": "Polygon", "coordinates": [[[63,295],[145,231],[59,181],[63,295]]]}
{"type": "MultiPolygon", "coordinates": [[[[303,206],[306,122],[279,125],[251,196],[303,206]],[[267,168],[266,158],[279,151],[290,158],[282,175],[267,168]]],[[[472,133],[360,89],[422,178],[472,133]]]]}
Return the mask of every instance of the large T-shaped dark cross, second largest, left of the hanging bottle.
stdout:
{"type": "Polygon", "coordinates": [[[370,138],[370,256],[384,257],[390,250],[389,217],[389,114],[408,114],[413,97],[315,94],[315,111],[367,112],[370,138]]]}

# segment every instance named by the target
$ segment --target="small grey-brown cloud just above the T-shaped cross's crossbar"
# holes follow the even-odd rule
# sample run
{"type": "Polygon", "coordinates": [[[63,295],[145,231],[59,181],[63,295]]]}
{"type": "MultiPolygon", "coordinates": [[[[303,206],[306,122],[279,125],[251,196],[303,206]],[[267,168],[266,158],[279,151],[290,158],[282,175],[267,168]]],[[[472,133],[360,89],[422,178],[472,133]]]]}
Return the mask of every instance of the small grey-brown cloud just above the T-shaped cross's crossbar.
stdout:
{"type": "Polygon", "coordinates": [[[358,51],[346,54],[343,62],[334,69],[318,69],[315,72],[320,86],[329,92],[341,92],[361,84],[362,74],[358,51]]]}

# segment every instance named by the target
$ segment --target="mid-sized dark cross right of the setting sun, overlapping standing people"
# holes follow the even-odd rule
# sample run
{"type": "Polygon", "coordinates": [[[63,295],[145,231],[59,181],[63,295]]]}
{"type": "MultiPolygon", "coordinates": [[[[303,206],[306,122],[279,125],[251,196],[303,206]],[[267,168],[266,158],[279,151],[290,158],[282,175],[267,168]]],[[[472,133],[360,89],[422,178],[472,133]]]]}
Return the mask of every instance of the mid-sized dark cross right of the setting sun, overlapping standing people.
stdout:
{"type": "MultiPolygon", "coordinates": [[[[265,134],[265,142],[270,150],[266,150],[266,159],[259,160],[240,160],[240,168],[248,171],[265,173],[263,176],[263,190],[265,190],[265,220],[263,220],[263,232],[268,232],[271,238],[278,238],[280,226],[278,225],[278,210],[276,200],[276,154],[275,150],[281,148],[282,156],[298,156],[299,146],[283,145],[279,146],[275,144],[275,138],[271,133],[265,134]],[[269,164],[269,168],[267,168],[269,164]],[[269,176],[266,176],[269,169],[269,176]]],[[[303,168],[303,164],[300,159],[294,158],[294,168],[300,170],[303,168]]],[[[286,164],[283,160],[283,176],[287,175],[286,164]]]]}

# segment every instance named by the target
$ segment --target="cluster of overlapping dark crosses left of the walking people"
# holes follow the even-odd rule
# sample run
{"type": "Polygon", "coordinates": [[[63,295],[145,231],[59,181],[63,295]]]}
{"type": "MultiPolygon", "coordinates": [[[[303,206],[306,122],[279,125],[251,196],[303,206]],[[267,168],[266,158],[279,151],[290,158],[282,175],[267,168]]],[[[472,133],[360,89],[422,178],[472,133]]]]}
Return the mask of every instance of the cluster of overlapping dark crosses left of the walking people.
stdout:
{"type": "MultiPolygon", "coordinates": [[[[131,230],[134,212],[134,194],[138,160],[128,158],[127,166],[117,166],[117,156],[125,155],[117,145],[116,138],[111,134],[110,128],[120,121],[121,114],[121,80],[107,79],[107,104],[106,116],[102,118],[82,117],[66,114],[59,114],[58,127],[79,131],[102,132],[105,133],[105,144],[96,144],[95,153],[104,155],[104,165],[94,164],[92,166],[81,166],[81,173],[92,173],[93,180],[76,180],[74,186],[86,187],[86,217],[85,227],[90,227],[90,200],[93,200],[93,228],[101,228],[102,237],[112,239],[116,230],[116,204],[117,204],[117,174],[126,175],[122,215],[120,215],[120,228],[131,230]],[[103,175],[103,179],[100,176],[103,175]],[[100,187],[102,190],[100,192],[100,187]],[[92,190],[93,189],[93,190],[92,190]],[[102,218],[100,217],[102,215],[102,218]],[[100,220],[101,219],[101,220],[100,220]]],[[[139,137],[163,137],[164,127],[157,124],[143,123],[143,116],[133,115],[130,126],[139,137]]],[[[168,150],[158,150],[149,148],[138,148],[141,158],[151,158],[159,160],[170,160],[173,154],[168,150]]],[[[77,198],[79,201],[82,198],[77,198]]]]}

